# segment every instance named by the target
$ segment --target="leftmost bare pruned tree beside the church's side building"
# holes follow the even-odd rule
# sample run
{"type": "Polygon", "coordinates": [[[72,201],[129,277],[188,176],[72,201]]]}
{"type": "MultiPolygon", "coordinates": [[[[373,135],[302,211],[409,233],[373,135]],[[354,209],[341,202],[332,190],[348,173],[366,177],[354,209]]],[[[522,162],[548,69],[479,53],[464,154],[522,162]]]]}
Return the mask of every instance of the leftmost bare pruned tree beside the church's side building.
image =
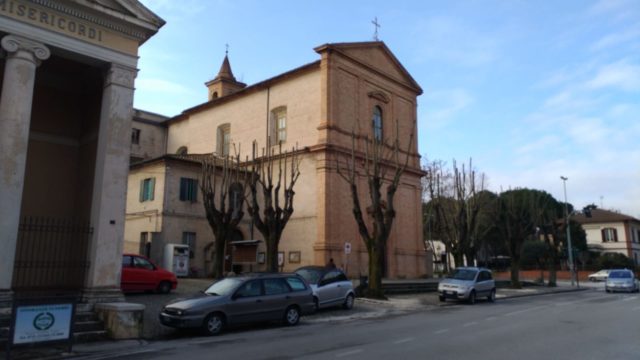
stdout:
{"type": "Polygon", "coordinates": [[[217,157],[214,154],[202,161],[203,204],[209,226],[215,237],[213,278],[224,277],[227,240],[244,216],[248,174],[240,167],[239,156],[217,157]]]}

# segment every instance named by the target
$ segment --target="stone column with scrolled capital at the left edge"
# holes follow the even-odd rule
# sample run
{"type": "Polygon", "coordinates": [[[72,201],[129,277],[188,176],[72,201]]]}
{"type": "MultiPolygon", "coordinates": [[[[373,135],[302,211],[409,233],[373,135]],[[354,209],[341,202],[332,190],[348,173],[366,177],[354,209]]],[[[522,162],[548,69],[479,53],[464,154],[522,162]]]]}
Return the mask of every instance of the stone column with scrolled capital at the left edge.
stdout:
{"type": "Polygon", "coordinates": [[[0,97],[0,303],[11,301],[36,67],[49,58],[41,43],[2,38],[7,52],[0,97]]]}

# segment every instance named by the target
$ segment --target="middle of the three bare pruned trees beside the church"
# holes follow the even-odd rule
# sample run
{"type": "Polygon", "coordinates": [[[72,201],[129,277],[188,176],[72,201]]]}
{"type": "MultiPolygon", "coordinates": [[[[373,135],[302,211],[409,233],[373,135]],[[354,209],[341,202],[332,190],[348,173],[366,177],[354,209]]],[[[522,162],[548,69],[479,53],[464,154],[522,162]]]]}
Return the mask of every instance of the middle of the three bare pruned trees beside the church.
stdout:
{"type": "Polygon", "coordinates": [[[257,157],[257,144],[253,143],[252,158],[248,162],[249,177],[247,211],[265,241],[267,271],[278,271],[278,246],[280,237],[293,215],[293,188],[300,177],[299,151],[282,152],[282,145],[267,146],[257,157]],[[262,198],[262,211],[260,199],[262,198]]]}

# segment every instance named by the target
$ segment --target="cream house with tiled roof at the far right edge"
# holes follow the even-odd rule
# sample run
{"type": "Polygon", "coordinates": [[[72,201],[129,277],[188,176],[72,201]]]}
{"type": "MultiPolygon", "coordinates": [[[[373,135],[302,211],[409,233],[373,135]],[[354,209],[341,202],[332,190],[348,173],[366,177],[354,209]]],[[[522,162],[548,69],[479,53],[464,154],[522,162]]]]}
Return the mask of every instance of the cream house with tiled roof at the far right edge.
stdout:
{"type": "Polygon", "coordinates": [[[640,264],[640,220],[602,209],[591,210],[591,217],[580,214],[574,219],[587,233],[589,250],[623,254],[640,264]]]}

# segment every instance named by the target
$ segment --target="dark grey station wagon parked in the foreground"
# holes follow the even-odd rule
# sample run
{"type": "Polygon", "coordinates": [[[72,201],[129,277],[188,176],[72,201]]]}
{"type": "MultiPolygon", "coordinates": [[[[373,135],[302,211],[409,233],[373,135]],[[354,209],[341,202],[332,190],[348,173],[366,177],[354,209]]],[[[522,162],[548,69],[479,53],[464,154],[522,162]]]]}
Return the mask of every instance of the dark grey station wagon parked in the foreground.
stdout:
{"type": "Polygon", "coordinates": [[[200,328],[217,335],[226,326],[282,321],[293,326],[314,308],[311,288],[299,275],[245,274],[213,283],[192,298],[164,306],[160,322],[174,328],[200,328]]]}

